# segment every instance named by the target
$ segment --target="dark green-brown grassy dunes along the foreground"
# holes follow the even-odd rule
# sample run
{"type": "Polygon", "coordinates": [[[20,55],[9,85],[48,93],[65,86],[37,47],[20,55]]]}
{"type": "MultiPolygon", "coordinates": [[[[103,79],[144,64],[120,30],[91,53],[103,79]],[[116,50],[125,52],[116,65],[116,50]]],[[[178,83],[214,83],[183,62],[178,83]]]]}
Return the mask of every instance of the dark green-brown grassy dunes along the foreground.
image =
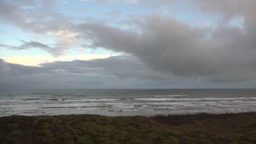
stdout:
{"type": "Polygon", "coordinates": [[[256,143],[256,113],[8,116],[0,143],[256,143]]]}

